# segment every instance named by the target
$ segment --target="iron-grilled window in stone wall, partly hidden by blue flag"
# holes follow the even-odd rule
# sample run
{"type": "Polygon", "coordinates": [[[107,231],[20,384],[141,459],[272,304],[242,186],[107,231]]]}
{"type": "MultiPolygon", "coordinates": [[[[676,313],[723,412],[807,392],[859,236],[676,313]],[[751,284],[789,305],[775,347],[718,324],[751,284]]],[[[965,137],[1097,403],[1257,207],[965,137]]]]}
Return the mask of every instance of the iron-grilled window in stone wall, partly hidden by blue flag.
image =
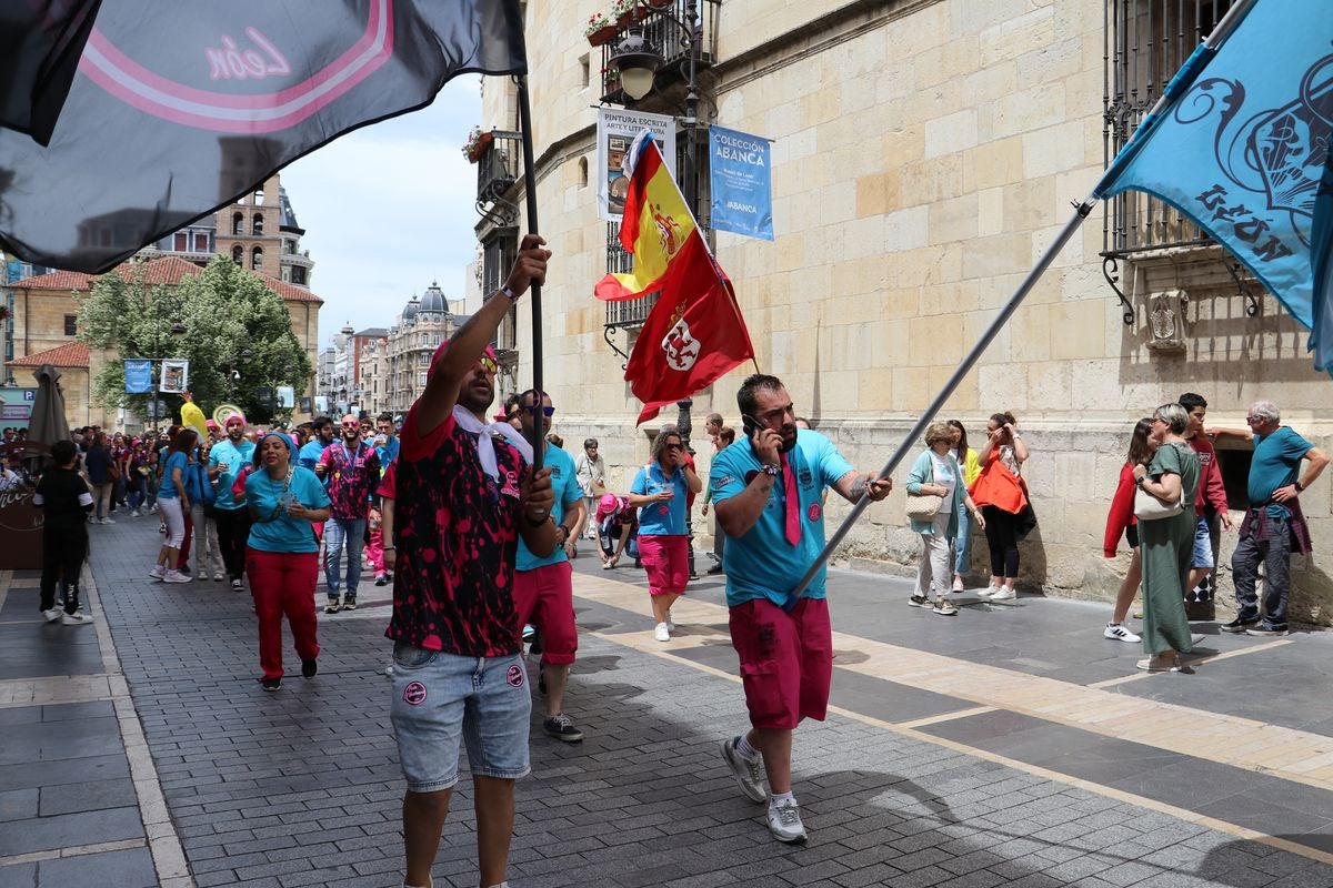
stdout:
{"type": "MultiPolygon", "coordinates": [[[[1172,76],[1233,0],[1106,0],[1106,164],[1152,111],[1172,76]]],[[[1142,192],[1105,202],[1102,256],[1210,244],[1189,217],[1142,192]]]]}

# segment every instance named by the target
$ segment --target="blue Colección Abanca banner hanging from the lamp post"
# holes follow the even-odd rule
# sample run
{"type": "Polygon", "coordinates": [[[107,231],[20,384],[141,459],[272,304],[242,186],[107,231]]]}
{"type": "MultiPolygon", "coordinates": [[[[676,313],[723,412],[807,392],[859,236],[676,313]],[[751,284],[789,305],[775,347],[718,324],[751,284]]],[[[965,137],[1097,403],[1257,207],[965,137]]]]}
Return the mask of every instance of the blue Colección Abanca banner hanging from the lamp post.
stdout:
{"type": "Polygon", "coordinates": [[[773,177],[768,140],[725,126],[708,129],[713,229],[773,240],[773,177]]]}

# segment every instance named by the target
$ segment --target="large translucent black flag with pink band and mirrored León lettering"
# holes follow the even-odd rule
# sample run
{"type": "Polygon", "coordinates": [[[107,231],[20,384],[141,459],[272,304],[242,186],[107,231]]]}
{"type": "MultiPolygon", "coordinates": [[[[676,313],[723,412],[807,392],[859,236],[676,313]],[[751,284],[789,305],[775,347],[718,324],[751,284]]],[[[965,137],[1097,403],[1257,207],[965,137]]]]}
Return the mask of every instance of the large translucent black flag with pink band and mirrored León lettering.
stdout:
{"type": "Polygon", "coordinates": [[[0,244],[105,272],[456,75],[525,68],[519,0],[113,0],[49,145],[0,129],[0,244]]]}

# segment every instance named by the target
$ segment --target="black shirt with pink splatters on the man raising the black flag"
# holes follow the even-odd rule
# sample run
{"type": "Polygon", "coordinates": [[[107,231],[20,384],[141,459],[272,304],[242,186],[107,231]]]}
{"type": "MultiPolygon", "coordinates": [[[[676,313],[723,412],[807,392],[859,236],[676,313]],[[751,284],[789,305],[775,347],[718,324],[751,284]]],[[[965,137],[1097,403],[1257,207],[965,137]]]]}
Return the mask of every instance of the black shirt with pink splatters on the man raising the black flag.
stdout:
{"type": "Polygon", "coordinates": [[[481,469],[472,435],[449,417],[423,437],[416,406],[395,461],[393,619],[385,635],[460,656],[520,650],[513,570],[527,463],[493,439],[499,481],[481,469]]]}

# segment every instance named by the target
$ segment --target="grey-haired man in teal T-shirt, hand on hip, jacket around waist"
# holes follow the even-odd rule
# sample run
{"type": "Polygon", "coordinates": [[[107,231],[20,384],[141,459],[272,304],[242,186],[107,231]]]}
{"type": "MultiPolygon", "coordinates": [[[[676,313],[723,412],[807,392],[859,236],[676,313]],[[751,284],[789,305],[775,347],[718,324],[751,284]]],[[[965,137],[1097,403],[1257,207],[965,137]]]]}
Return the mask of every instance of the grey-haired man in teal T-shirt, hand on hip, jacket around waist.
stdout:
{"type": "Polygon", "coordinates": [[[1246,635],[1286,635],[1286,603],[1292,586],[1290,559],[1296,547],[1310,551],[1310,533],[1301,514],[1301,493],[1314,483],[1329,458],[1322,450],[1281,425],[1272,401],[1256,401],[1245,417],[1249,431],[1217,429],[1218,435],[1245,437],[1254,442],[1249,474],[1249,509],[1241,523],[1241,538],[1232,554],[1232,582],[1236,583],[1236,619],[1224,632],[1246,635]],[[1304,466],[1302,463],[1308,463],[1304,466]],[[1264,616],[1260,619],[1254,592],[1260,562],[1264,563],[1264,616]]]}

